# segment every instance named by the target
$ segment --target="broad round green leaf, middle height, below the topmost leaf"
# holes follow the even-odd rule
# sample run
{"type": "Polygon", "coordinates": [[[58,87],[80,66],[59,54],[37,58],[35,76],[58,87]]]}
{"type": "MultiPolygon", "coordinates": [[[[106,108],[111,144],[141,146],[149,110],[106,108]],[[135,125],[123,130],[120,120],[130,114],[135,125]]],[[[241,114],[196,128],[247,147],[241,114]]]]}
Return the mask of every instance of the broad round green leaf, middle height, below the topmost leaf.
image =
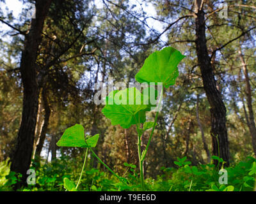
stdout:
{"type": "Polygon", "coordinates": [[[130,128],[133,124],[145,122],[147,108],[148,105],[143,105],[141,92],[135,87],[131,87],[110,92],[102,113],[111,119],[113,126],[119,124],[122,128],[130,128]]]}

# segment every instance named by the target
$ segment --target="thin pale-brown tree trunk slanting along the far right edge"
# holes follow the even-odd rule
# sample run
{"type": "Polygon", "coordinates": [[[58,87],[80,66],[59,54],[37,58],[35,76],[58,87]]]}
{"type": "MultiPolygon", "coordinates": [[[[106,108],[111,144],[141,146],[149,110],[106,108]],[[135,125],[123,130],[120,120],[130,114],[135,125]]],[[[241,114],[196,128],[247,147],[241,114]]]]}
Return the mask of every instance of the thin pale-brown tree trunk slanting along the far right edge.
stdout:
{"type": "MultiPolygon", "coordinates": [[[[247,65],[246,65],[246,62],[244,61],[241,48],[239,48],[238,52],[242,62],[242,68],[243,68],[244,80],[245,80],[245,95],[246,95],[246,103],[248,107],[248,116],[246,114],[246,121],[248,124],[248,128],[250,130],[250,135],[252,136],[252,147],[253,147],[254,155],[256,157],[256,127],[255,127],[253,108],[252,108],[252,88],[250,85],[250,78],[248,75],[247,65]]],[[[244,112],[246,113],[245,108],[244,108],[244,112]]]]}

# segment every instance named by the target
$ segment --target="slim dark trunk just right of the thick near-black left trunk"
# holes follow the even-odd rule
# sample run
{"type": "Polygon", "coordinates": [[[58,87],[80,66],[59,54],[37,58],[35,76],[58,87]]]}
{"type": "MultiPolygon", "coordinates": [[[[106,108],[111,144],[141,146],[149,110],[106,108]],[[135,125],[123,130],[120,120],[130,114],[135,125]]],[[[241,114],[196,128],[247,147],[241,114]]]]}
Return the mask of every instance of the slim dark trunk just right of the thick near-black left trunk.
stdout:
{"type": "Polygon", "coordinates": [[[45,140],[47,128],[49,125],[49,119],[50,119],[50,115],[51,115],[51,109],[50,109],[50,106],[49,106],[49,103],[47,100],[45,90],[43,91],[42,95],[43,95],[42,98],[43,98],[43,103],[44,103],[45,116],[44,116],[44,126],[41,131],[39,143],[36,145],[35,156],[37,158],[40,158],[40,154],[41,154],[43,146],[44,146],[44,140],[45,140]]]}

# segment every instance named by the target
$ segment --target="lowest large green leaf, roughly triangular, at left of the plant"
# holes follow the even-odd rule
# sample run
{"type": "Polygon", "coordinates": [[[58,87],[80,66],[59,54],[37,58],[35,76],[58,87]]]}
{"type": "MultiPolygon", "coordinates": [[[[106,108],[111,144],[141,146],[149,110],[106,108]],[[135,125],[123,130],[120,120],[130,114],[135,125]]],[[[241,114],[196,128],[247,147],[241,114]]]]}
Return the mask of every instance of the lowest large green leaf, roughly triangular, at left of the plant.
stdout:
{"type": "Polygon", "coordinates": [[[86,147],[83,126],[76,124],[67,128],[57,145],[59,147],[86,147]]]}

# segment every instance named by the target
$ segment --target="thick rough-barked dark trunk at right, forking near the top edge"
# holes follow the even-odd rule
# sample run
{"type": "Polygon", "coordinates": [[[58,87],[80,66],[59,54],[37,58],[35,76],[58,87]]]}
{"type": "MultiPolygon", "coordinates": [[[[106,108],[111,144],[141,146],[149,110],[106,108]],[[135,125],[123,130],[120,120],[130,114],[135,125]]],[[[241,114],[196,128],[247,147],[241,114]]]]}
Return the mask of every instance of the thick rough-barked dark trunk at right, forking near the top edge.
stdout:
{"type": "MultiPolygon", "coordinates": [[[[216,87],[211,57],[209,57],[207,50],[203,1],[196,0],[195,8],[196,54],[202,74],[205,94],[211,106],[212,153],[213,155],[221,157],[226,162],[225,166],[228,166],[230,153],[226,128],[226,108],[222,101],[221,94],[216,87]]],[[[216,160],[214,160],[214,163],[217,165],[216,160]]]]}

